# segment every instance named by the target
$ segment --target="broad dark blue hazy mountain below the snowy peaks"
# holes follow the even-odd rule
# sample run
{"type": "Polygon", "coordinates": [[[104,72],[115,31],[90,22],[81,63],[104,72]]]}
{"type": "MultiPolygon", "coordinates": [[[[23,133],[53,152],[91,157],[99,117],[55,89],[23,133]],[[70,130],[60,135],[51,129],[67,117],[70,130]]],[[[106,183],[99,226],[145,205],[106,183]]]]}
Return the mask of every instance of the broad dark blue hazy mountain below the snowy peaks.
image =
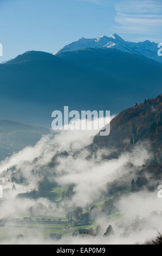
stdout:
{"type": "Polygon", "coordinates": [[[116,48],[25,52],[0,65],[0,117],[50,127],[63,106],[116,114],[160,94],[161,73],[161,63],[116,48]]]}

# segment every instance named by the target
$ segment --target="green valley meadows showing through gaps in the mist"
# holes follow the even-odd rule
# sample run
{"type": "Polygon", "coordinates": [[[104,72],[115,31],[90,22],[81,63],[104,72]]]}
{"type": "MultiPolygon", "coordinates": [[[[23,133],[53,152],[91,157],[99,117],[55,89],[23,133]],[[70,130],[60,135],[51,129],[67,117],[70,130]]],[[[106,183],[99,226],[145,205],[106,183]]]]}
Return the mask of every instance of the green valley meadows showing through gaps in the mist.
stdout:
{"type": "MultiPolygon", "coordinates": [[[[67,190],[67,187],[55,187],[53,188],[53,190],[47,192],[47,197],[50,200],[53,200],[53,202],[59,203],[63,200],[64,196],[67,193],[67,190]]],[[[97,208],[101,209],[106,200],[108,200],[109,198],[113,198],[115,195],[120,196],[120,194],[124,193],[128,193],[128,191],[118,192],[111,197],[106,197],[104,200],[95,202],[94,205],[97,208]]],[[[25,237],[29,237],[30,239],[38,239],[39,237],[43,239],[49,239],[51,233],[61,234],[62,236],[69,236],[72,235],[74,231],[79,230],[81,228],[92,228],[93,230],[95,230],[98,224],[101,222],[111,223],[114,221],[122,220],[121,213],[115,212],[114,214],[108,215],[106,217],[100,217],[89,225],[71,227],[71,223],[68,222],[66,216],[64,214],[61,214],[61,212],[50,212],[50,214],[41,217],[46,218],[46,221],[40,220],[40,222],[36,221],[36,218],[34,218],[31,222],[23,221],[23,217],[29,217],[27,215],[17,217],[21,218],[21,220],[7,221],[4,223],[4,225],[0,225],[0,242],[3,242],[6,239],[15,239],[16,241],[16,236],[18,234],[23,234],[25,237]],[[52,221],[48,221],[48,218],[51,219],[52,221]],[[61,218],[62,222],[58,222],[59,218],[61,218]],[[56,222],[53,221],[54,219],[56,219],[56,222]]]]}

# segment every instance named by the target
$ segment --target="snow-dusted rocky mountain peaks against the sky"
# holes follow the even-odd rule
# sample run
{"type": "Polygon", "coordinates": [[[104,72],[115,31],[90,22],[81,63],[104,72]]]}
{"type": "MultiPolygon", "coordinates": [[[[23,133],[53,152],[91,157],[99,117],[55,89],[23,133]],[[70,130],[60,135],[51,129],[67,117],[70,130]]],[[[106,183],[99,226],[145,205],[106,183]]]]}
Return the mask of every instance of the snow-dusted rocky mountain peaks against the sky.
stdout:
{"type": "Polygon", "coordinates": [[[146,40],[144,42],[129,42],[122,39],[119,35],[113,34],[110,36],[99,36],[98,38],[81,38],[77,41],[72,42],[69,45],[64,46],[60,51],[57,51],[53,54],[67,51],[77,51],[84,48],[94,48],[94,47],[107,47],[107,48],[117,48],[120,51],[124,52],[135,52],[141,54],[147,58],[156,60],[157,62],[162,63],[162,57],[159,57],[158,44],[146,40]]]}

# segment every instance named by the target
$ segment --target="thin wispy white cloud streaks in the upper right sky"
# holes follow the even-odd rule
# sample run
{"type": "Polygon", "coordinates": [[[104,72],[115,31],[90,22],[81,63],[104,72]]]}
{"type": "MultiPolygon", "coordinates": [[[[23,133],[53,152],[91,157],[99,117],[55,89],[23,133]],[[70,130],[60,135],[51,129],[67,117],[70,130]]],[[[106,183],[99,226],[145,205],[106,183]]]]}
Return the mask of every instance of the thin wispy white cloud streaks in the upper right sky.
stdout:
{"type": "Polygon", "coordinates": [[[162,28],[162,2],[131,0],[115,4],[115,21],[119,26],[113,30],[122,33],[157,34],[162,28]]]}

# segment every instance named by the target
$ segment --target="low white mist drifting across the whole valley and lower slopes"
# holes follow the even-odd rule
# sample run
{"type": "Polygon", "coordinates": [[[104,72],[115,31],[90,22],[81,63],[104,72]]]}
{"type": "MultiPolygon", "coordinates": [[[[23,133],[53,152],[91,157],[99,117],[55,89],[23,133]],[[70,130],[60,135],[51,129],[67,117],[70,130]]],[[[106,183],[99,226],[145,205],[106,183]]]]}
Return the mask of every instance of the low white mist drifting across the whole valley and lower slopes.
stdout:
{"type": "MultiPolygon", "coordinates": [[[[92,152],[89,147],[98,132],[51,131],[34,147],[24,148],[0,163],[4,191],[0,202],[1,243],[144,243],[162,231],[157,191],[131,188],[132,179],[152,157],[148,142],[108,159],[103,156],[115,149],[92,152]],[[54,192],[62,191],[61,199],[52,198],[53,188],[54,192]],[[92,230],[89,234],[76,234],[77,225],[73,223],[86,214],[93,223],[92,230]],[[61,219],[58,227],[51,223],[53,216],[61,219]],[[64,228],[62,216],[68,219],[64,228]],[[33,218],[36,224],[24,218],[33,218]],[[43,218],[49,219],[48,224],[43,218]],[[22,224],[21,220],[27,222],[22,224]],[[104,236],[110,224],[113,232],[104,236]],[[52,239],[50,233],[61,233],[61,237],[52,239]]],[[[88,225],[80,226],[88,229],[88,225]]]]}

